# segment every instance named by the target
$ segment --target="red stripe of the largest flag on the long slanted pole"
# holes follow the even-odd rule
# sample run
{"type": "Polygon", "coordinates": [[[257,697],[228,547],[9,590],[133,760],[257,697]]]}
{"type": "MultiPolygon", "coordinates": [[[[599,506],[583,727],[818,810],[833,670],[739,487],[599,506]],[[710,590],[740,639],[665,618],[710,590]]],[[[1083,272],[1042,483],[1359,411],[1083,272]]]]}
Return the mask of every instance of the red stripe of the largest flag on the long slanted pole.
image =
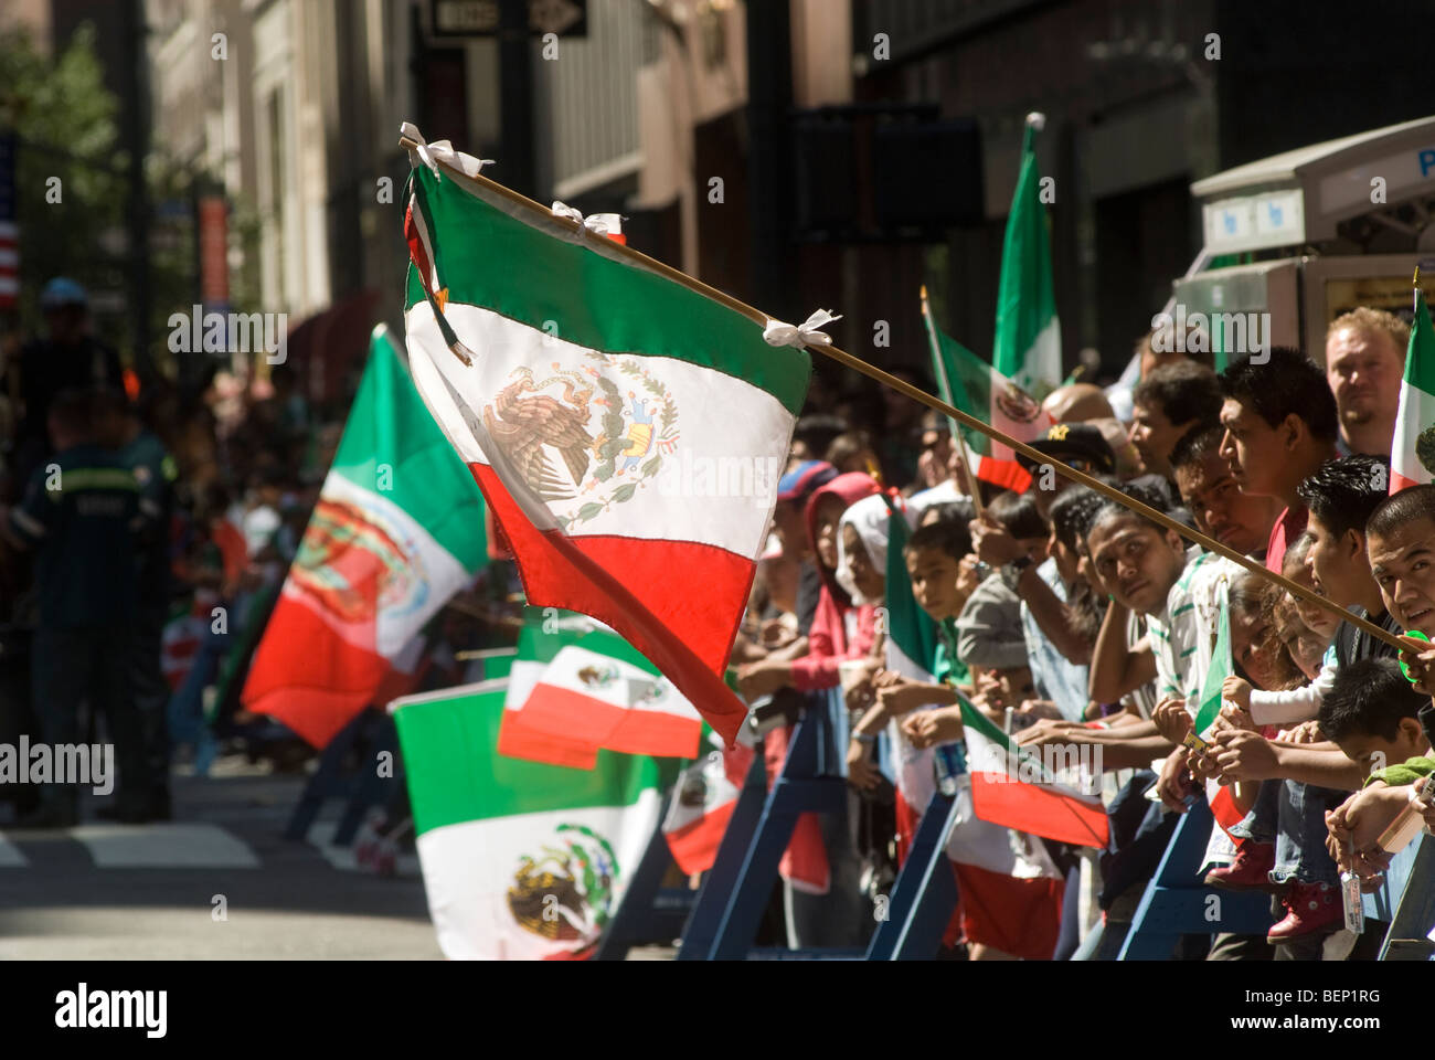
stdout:
{"type": "Polygon", "coordinates": [[[722,675],[752,587],[753,562],[693,541],[542,531],[508,496],[494,468],[469,468],[514,549],[528,603],[606,622],[733,743],[748,708],[722,675]]]}

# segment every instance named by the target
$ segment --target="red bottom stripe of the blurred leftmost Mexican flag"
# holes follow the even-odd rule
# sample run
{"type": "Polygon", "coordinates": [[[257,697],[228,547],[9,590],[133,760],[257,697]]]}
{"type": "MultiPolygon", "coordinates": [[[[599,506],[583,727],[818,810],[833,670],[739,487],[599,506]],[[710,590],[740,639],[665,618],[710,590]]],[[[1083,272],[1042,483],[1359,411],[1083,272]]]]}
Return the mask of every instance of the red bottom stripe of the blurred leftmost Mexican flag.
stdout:
{"type": "Polygon", "coordinates": [[[243,702],[324,747],[373,701],[387,672],[386,658],[349,643],[301,598],[286,593],[254,652],[243,702]]]}

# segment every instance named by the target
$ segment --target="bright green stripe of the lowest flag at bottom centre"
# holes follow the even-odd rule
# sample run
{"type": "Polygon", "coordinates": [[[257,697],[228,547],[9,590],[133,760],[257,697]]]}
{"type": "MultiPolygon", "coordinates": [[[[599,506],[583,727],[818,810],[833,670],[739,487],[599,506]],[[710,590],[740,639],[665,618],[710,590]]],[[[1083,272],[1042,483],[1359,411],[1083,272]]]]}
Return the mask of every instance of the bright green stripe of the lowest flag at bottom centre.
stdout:
{"type": "Polygon", "coordinates": [[[644,790],[677,777],[677,760],[613,751],[598,751],[593,770],[505,758],[495,751],[504,695],[497,685],[435,694],[395,710],[418,834],[519,813],[631,806],[644,790]]]}

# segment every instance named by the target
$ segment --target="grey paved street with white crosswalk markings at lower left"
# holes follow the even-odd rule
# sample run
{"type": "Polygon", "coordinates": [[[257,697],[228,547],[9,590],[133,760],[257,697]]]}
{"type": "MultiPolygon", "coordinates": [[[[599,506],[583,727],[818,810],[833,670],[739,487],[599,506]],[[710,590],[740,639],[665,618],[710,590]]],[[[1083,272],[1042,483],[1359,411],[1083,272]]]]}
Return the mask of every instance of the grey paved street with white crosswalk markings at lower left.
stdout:
{"type": "Polygon", "coordinates": [[[412,856],[393,878],[356,870],[324,842],[337,803],[309,842],[281,837],[303,781],[221,760],[208,778],[175,778],[174,823],[0,823],[0,961],[441,959],[412,856]]]}

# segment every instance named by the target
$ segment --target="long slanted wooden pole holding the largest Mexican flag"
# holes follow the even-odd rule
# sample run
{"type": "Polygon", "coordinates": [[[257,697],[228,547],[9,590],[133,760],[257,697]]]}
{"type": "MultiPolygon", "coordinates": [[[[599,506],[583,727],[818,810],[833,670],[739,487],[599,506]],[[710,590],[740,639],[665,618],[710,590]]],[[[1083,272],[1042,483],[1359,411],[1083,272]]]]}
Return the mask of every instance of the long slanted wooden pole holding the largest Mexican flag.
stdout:
{"type": "MultiPolygon", "coordinates": [[[[418,141],[413,141],[413,139],[410,139],[408,136],[400,136],[399,138],[399,145],[405,147],[405,148],[408,148],[410,151],[418,149],[419,147],[422,147],[418,141]]],[[[482,188],[486,194],[502,197],[502,198],[508,200],[509,203],[512,203],[514,205],[518,205],[518,207],[522,207],[525,210],[534,211],[535,214],[538,214],[540,217],[542,217],[545,221],[557,223],[560,226],[563,226],[563,224],[571,226],[571,228],[578,236],[578,238],[584,238],[584,231],[585,230],[577,221],[574,221],[571,218],[557,217],[557,215],[554,215],[554,213],[551,210],[548,210],[542,204],[534,203],[531,198],[528,198],[525,195],[519,195],[517,191],[511,191],[509,188],[505,188],[502,184],[495,184],[494,181],[488,180],[482,174],[479,174],[478,177],[469,177],[462,169],[458,169],[453,165],[449,165],[449,162],[445,158],[442,158],[442,157],[436,158],[435,161],[438,162],[439,167],[443,168],[443,172],[448,177],[451,177],[452,180],[458,181],[461,185],[466,184],[466,185],[471,185],[471,187],[482,188]]],[[[588,238],[597,240],[600,237],[594,236],[594,237],[588,237],[588,238]]],[[[633,261],[633,264],[636,264],[636,266],[639,266],[641,269],[647,269],[649,271],[654,271],[654,273],[657,273],[660,276],[667,277],[673,283],[680,283],[682,286],[687,287],[689,290],[697,292],[699,294],[705,294],[706,297],[710,297],[713,302],[718,302],[718,303],[720,303],[723,306],[728,306],[728,309],[733,310],[735,313],[742,313],[743,316],[746,316],[749,320],[752,320],[759,327],[766,327],[768,326],[768,320],[771,317],[766,313],[761,313],[756,309],[753,309],[752,306],[749,306],[749,304],[746,304],[743,302],[739,302],[735,297],[732,297],[730,294],[725,294],[723,292],[718,290],[716,287],[709,287],[702,280],[695,280],[692,276],[687,276],[686,273],[680,273],[679,270],[673,269],[672,266],[663,264],[662,261],[657,261],[657,260],[649,257],[647,254],[644,254],[644,253],[641,253],[639,250],[633,250],[633,247],[624,246],[621,243],[613,243],[611,240],[603,238],[603,250],[607,254],[617,254],[620,257],[630,259],[633,261]]],[[[1168,516],[1167,513],[1158,511],[1157,508],[1152,508],[1149,504],[1144,504],[1142,501],[1138,501],[1135,497],[1128,497],[1121,490],[1118,490],[1115,487],[1111,487],[1111,485],[1106,485],[1099,478],[1093,478],[1089,474],[1086,474],[1085,471],[1078,471],[1073,467],[1068,467],[1066,464],[1063,464],[1059,460],[1050,460],[1046,454],[1040,452],[1039,450],[1033,450],[1026,442],[1017,441],[1016,438],[1010,437],[1009,434],[1004,434],[1003,431],[996,429],[994,427],[990,427],[989,424],[983,424],[976,417],[969,415],[969,414],[963,412],[960,408],[954,408],[953,405],[949,405],[947,402],[944,402],[944,401],[941,401],[938,398],[931,396],[930,394],[921,391],[920,388],[913,386],[905,379],[898,379],[895,375],[891,375],[890,372],[884,372],[883,369],[877,368],[875,365],[870,365],[865,361],[862,361],[861,358],[854,356],[854,355],[851,355],[851,353],[848,353],[845,350],[841,350],[837,346],[814,345],[814,346],[808,346],[806,349],[809,352],[811,350],[817,350],[817,352],[819,352],[819,353],[831,358],[832,361],[837,361],[838,363],[845,365],[847,368],[851,368],[854,372],[860,372],[860,373],[865,375],[868,379],[874,379],[875,382],[880,382],[883,386],[894,389],[898,394],[904,394],[908,398],[911,398],[913,401],[916,401],[916,402],[918,402],[921,405],[926,405],[927,408],[936,409],[937,412],[944,414],[947,418],[956,419],[959,424],[961,424],[964,427],[969,427],[973,431],[977,431],[979,434],[984,434],[992,441],[1000,442],[1002,445],[1009,447],[1015,452],[1020,452],[1027,460],[1030,460],[1033,464],[1039,464],[1042,467],[1050,467],[1062,478],[1066,478],[1066,480],[1069,480],[1072,483],[1076,483],[1078,485],[1085,485],[1088,490],[1095,490],[1102,497],[1106,497],[1108,500],[1112,500],[1116,504],[1121,504],[1122,507],[1131,508],[1132,511],[1135,511],[1137,514],[1142,516],[1144,519],[1148,519],[1149,521],[1155,523],[1157,526],[1159,526],[1159,527],[1162,527],[1165,530],[1171,530],[1172,533],[1180,534],[1181,537],[1184,537],[1188,541],[1200,544],[1207,552],[1214,552],[1217,556],[1224,556],[1225,559],[1228,559],[1233,563],[1236,563],[1238,567],[1243,567],[1244,570],[1256,575],[1257,577],[1264,577],[1267,582],[1273,582],[1274,585],[1279,585],[1281,589],[1284,589],[1286,592],[1289,592],[1296,599],[1306,600],[1307,603],[1313,603],[1317,608],[1322,608],[1323,610],[1327,610],[1329,613],[1335,615],[1340,620],[1349,622],[1350,625],[1353,625],[1356,629],[1362,631],[1363,633],[1366,633],[1369,636],[1373,636],[1376,641],[1388,643],[1392,648],[1396,648],[1399,651],[1409,651],[1409,645],[1401,642],[1401,639],[1395,633],[1391,633],[1391,632],[1382,629],[1380,626],[1375,625],[1369,619],[1363,619],[1363,618],[1359,618],[1359,616],[1353,615],[1352,612],[1349,612],[1345,608],[1342,608],[1339,603],[1335,603],[1333,600],[1329,600],[1325,596],[1319,596],[1317,593],[1312,592],[1310,589],[1306,589],[1302,585],[1296,585],[1289,577],[1286,577],[1283,575],[1279,575],[1274,570],[1267,570],[1263,564],[1257,563],[1256,560],[1248,559],[1247,556],[1243,556],[1241,553],[1236,552],[1236,549],[1231,549],[1231,547],[1228,547],[1225,544],[1221,544],[1214,537],[1207,537],[1200,530],[1192,530],[1191,527],[1185,526],[1184,523],[1180,523],[1180,521],[1171,519],[1171,516],[1168,516]]]]}

